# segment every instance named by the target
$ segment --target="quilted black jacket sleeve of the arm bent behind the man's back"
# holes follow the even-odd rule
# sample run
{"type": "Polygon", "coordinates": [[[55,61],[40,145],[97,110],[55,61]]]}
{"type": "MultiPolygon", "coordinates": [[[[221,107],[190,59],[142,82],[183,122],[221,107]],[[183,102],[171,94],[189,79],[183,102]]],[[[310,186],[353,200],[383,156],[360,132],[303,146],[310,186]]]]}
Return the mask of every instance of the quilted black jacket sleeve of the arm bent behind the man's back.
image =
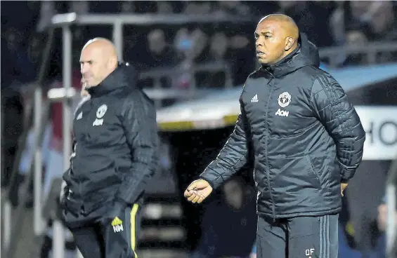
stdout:
{"type": "Polygon", "coordinates": [[[311,102],[315,114],[337,146],[341,180],[351,179],[363,158],[365,131],[339,83],[328,74],[313,82],[311,102]]]}

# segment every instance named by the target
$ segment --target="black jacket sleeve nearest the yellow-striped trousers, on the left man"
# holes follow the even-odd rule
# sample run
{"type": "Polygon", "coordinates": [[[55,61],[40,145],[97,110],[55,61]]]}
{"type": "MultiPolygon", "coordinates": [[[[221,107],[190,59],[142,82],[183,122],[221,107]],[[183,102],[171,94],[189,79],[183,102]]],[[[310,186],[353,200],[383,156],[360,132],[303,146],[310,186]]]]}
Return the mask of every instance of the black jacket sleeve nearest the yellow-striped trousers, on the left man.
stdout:
{"type": "Polygon", "coordinates": [[[150,100],[141,92],[131,94],[124,102],[122,125],[131,149],[132,166],[119,186],[116,199],[135,203],[145,191],[154,175],[158,162],[156,111],[150,100]]]}

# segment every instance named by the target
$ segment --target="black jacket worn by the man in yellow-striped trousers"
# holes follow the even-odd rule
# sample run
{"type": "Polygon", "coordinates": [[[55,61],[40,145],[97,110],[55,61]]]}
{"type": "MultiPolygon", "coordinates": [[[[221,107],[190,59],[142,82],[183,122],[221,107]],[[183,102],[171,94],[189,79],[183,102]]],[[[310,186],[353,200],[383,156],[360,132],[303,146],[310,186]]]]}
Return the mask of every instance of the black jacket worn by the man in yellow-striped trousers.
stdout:
{"type": "Polygon", "coordinates": [[[154,174],[156,111],[135,77],[132,67],[120,64],[77,107],[74,152],[63,175],[67,210],[89,214],[103,205],[135,203],[154,174]]]}

